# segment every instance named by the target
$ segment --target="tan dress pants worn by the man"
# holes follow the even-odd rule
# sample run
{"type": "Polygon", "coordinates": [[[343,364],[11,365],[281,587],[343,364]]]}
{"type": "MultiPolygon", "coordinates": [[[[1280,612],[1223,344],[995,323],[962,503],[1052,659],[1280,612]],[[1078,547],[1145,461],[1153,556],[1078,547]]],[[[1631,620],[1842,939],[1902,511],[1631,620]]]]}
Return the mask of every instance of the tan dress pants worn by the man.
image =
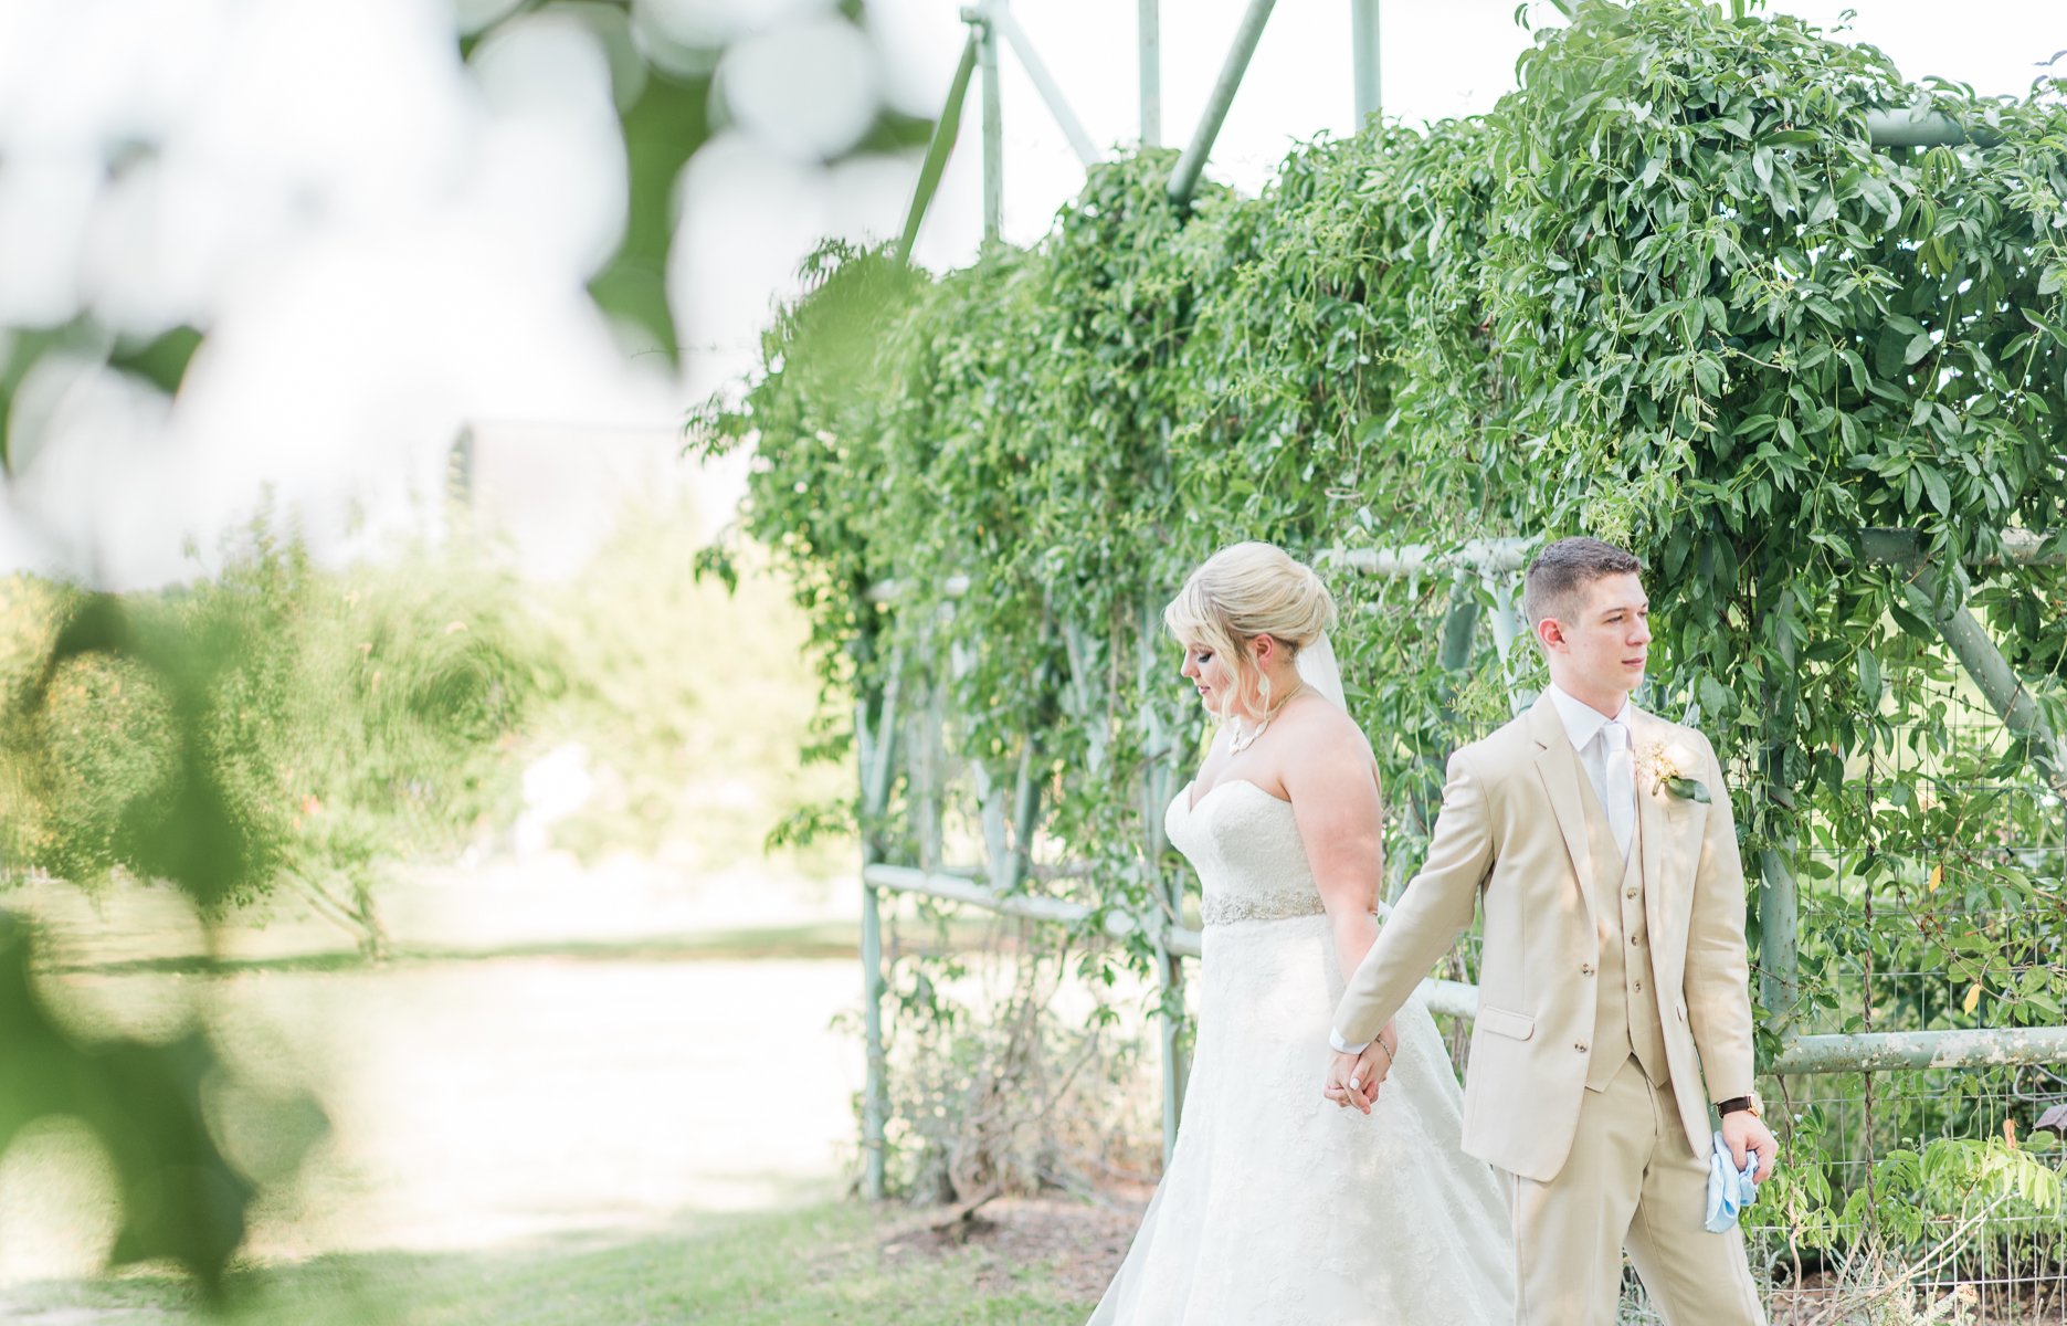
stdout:
{"type": "Polygon", "coordinates": [[[1515,1216],[1517,1326],[1614,1326],[1623,1247],[1668,1326],[1765,1326],[1745,1237],[1707,1233],[1707,1150],[1672,1086],[1631,1057],[1585,1092],[1571,1158],[1548,1183],[1503,1171],[1515,1216]]]}

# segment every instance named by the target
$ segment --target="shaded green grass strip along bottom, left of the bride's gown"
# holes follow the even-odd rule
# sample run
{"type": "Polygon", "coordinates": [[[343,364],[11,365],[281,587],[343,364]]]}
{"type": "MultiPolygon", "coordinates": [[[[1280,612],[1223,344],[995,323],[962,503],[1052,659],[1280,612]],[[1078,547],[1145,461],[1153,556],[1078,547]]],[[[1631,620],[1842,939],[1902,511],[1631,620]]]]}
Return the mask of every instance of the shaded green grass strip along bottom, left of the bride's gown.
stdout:
{"type": "MultiPolygon", "coordinates": [[[[1079,1254],[1091,1249],[1091,1262],[1110,1262],[1114,1237],[1124,1245],[1127,1231],[1127,1223],[1091,1214],[1106,1225],[1096,1237],[1075,1231],[1071,1212],[1060,1220],[1050,1212],[1042,1216],[1042,1233],[1017,1243],[1013,1237],[1025,1231],[1025,1220],[1015,1223],[1011,1214],[953,1243],[914,1227],[905,1212],[870,1212],[850,1202],[783,1214],[703,1216],[682,1233],[637,1241],[331,1256],[242,1274],[232,1287],[229,1316],[269,1326],[1079,1326],[1098,1297],[1089,1287],[1098,1272],[1087,1274],[1079,1254]]],[[[68,1324],[209,1320],[184,1280],[138,1272],[0,1293],[0,1318],[37,1320],[37,1314],[68,1324]]]]}

